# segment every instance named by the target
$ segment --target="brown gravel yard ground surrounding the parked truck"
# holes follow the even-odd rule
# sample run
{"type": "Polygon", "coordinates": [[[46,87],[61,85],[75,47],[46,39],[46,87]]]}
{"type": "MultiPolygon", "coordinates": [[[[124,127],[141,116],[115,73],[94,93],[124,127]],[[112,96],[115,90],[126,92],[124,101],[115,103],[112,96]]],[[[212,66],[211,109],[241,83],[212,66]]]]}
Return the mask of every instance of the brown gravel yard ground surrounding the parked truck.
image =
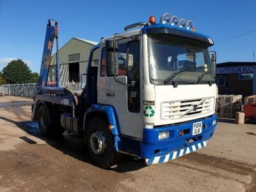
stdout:
{"type": "Polygon", "coordinates": [[[104,170],[82,141],[44,138],[30,116],[30,106],[0,108],[0,191],[256,191],[256,125],[219,119],[198,152],[152,166],[124,157],[104,170]]]}

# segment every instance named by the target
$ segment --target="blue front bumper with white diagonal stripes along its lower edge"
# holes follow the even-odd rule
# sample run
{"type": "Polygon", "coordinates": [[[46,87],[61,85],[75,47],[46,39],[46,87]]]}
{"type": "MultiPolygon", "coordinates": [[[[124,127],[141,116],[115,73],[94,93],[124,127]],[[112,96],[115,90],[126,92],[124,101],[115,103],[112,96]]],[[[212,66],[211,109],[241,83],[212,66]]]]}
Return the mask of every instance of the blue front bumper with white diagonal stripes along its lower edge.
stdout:
{"type": "Polygon", "coordinates": [[[189,152],[193,152],[207,145],[212,137],[217,115],[186,122],[184,124],[168,125],[154,129],[143,129],[143,142],[141,143],[141,157],[147,164],[164,163],[171,161],[189,152]],[[202,133],[192,135],[193,124],[202,121],[202,133]],[[169,138],[158,140],[159,132],[169,131],[169,138]],[[180,135],[180,131],[184,132],[180,135]]]}

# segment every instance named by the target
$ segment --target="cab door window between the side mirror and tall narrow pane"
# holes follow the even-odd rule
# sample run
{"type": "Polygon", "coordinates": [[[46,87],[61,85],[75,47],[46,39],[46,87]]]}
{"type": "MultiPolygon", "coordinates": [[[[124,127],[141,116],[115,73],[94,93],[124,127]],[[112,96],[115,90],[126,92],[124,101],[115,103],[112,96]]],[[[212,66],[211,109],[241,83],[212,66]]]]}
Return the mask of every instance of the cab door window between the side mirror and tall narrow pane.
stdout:
{"type": "Polygon", "coordinates": [[[126,76],[127,43],[118,45],[118,76],[126,76]]]}

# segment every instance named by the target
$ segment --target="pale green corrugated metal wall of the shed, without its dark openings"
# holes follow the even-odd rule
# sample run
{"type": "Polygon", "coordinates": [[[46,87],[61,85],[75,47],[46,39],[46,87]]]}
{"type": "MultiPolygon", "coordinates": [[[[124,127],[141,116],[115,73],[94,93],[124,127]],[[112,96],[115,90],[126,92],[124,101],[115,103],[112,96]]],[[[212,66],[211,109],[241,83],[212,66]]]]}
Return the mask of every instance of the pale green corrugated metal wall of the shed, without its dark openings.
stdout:
{"type": "MultiPolygon", "coordinates": [[[[68,64],[79,62],[79,72],[81,74],[86,73],[86,67],[90,55],[90,51],[94,45],[72,38],[67,44],[61,47],[60,54],[60,81],[61,83],[67,83],[69,81],[68,64]],[[80,60],[68,61],[68,55],[80,54],[80,60]]],[[[56,54],[52,55],[51,63],[48,74],[48,81],[56,81],[56,54]]],[[[83,78],[85,83],[85,78],[83,78]]]]}

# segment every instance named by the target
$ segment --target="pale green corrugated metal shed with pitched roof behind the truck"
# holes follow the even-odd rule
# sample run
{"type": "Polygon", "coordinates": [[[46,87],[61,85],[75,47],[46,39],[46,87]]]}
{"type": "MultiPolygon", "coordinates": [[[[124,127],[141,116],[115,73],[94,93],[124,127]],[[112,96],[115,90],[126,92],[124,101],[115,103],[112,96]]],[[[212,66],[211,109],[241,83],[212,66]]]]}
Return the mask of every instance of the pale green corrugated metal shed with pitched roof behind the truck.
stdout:
{"type": "MultiPolygon", "coordinates": [[[[86,73],[90,50],[97,42],[82,38],[72,38],[59,50],[60,83],[79,82],[81,74],[86,73]]],[[[85,78],[84,78],[85,79],[85,78]]],[[[83,79],[83,81],[85,81],[83,79]]],[[[52,55],[48,82],[56,81],[56,53],[52,55]]]]}

